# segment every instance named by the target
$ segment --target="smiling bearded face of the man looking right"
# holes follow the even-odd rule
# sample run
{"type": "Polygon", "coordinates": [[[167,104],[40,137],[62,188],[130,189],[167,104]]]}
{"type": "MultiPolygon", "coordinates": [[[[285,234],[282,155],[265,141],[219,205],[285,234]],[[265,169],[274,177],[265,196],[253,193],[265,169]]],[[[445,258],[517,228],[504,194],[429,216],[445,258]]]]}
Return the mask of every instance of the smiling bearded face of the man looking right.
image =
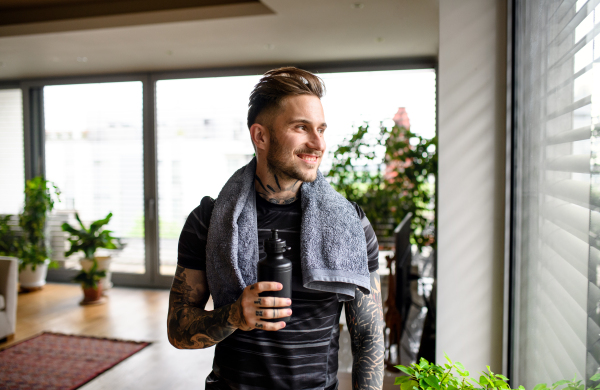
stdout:
{"type": "Polygon", "coordinates": [[[269,129],[267,167],[279,177],[312,182],[325,153],[325,114],[313,95],[289,96],[269,129]]]}

